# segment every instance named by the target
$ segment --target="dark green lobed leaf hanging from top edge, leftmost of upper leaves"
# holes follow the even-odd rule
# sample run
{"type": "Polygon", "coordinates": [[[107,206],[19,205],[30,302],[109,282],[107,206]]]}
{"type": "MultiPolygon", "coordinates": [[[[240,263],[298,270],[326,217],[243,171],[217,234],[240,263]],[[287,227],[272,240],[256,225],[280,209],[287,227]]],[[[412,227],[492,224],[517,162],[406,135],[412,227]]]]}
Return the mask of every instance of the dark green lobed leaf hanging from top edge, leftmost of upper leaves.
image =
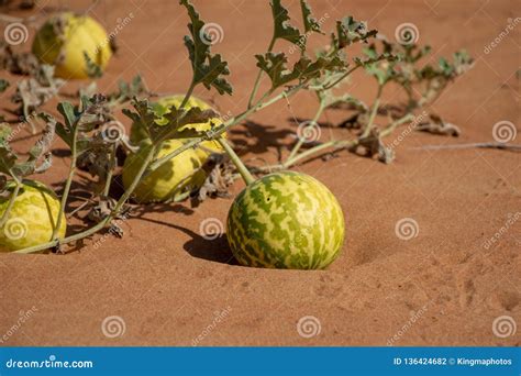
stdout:
{"type": "Polygon", "coordinates": [[[185,36],[185,45],[188,48],[188,55],[193,70],[192,84],[203,84],[207,89],[213,87],[220,95],[231,95],[233,88],[231,84],[222,77],[230,75],[228,62],[224,62],[221,55],[210,53],[210,43],[208,43],[208,41],[211,38],[207,36],[203,30],[204,22],[200,19],[193,5],[188,0],[180,0],[180,4],[185,5],[191,21],[191,23],[188,24],[191,36],[185,36]]]}

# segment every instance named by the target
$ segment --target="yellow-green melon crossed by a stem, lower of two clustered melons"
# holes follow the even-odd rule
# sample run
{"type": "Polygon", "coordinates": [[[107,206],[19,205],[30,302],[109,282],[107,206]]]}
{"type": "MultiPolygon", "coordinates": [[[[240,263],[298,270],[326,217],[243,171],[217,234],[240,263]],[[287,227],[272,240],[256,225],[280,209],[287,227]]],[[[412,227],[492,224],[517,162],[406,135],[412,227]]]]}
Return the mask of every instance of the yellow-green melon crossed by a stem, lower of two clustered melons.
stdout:
{"type": "MultiPolygon", "coordinates": [[[[162,144],[157,158],[170,154],[182,146],[179,140],[168,140],[162,144]]],[[[144,140],[140,144],[140,150],[135,154],[129,155],[123,166],[123,186],[129,189],[134,177],[143,166],[145,156],[149,153],[152,143],[144,140]]],[[[165,202],[179,201],[188,196],[195,188],[196,181],[200,184],[199,170],[201,162],[196,152],[190,148],[163,164],[147,177],[145,177],[135,188],[132,198],[136,202],[165,202]]],[[[203,179],[202,179],[203,181],[203,179]]]]}

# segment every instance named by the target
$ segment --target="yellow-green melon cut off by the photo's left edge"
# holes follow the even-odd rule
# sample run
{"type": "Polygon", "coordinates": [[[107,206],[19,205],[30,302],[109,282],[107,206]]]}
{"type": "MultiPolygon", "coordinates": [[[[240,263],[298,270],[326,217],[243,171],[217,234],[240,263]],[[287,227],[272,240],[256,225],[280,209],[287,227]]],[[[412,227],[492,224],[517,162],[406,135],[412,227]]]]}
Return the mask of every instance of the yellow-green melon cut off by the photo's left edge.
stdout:
{"type": "MultiPolygon", "coordinates": [[[[7,187],[12,192],[14,183],[7,187]]],[[[0,198],[0,218],[9,204],[10,195],[0,198]]],[[[59,200],[45,185],[34,180],[23,180],[14,203],[0,228],[0,251],[16,251],[46,243],[53,235],[59,213],[59,200]]],[[[65,215],[58,230],[64,237],[67,229],[65,215]]]]}

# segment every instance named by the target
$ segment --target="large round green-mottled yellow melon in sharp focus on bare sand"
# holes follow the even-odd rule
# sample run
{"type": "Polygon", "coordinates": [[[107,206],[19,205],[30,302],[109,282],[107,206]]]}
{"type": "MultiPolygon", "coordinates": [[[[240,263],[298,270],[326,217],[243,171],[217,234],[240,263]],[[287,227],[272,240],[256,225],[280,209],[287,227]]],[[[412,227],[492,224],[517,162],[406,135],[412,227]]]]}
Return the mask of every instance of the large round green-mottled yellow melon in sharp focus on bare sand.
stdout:
{"type": "Polygon", "coordinates": [[[228,241],[242,265],[322,269],[342,250],[344,214],[319,180],[295,172],[275,173],[247,186],[234,200],[228,241]]]}

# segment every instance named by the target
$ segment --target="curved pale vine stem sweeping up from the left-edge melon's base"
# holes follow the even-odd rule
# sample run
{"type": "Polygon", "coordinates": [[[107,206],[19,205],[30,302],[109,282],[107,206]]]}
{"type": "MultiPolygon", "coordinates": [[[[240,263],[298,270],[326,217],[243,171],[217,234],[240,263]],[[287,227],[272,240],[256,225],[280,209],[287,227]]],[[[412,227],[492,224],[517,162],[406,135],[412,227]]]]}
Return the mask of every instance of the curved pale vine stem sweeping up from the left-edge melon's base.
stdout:
{"type": "Polygon", "coordinates": [[[79,241],[79,240],[85,239],[87,236],[90,236],[90,235],[97,233],[98,231],[100,231],[101,229],[103,229],[108,223],[110,223],[110,221],[112,221],[115,218],[115,215],[121,210],[121,207],[123,207],[123,204],[126,202],[126,200],[130,198],[130,196],[134,192],[135,187],[137,187],[137,184],[140,183],[143,174],[145,173],[146,168],[151,164],[151,161],[154,157],[154,154],[155,154],[155,146],[153,146],[151,148],[151,151],[148,152],[148,154],[146,155],[143,165],[141,166],[140,170],[137,172],[136,176],[134,177],[134,180],[132,180],[132,184],[129,187],[129,189],[126,189],[125,192],[123,193],[123,196],[121,196],[121,198],[118,200],[118,203],[115,204],[112,212],[109,215],[107,215],[104,219],[102,219],[98,224],[96,224],[95,226],[92,226],[88,230],[85,230],[82,232],[74,234],[71,236],[67,236],[67,237],[64,237],[62,240],[55,239],[55,240],[52,240],[51,242],[47,242],[47,243],[44,243],[44,244],[38,244],[38,245],[32,246],[32,247],[14,251],[13,253],[24,253],[24,254],[26,254],[26,253],[35,253],[35,252],[48,250],[48,248],[51,248],[53,246],[56,246],[58,244],[66,244],[66,243],[71,243],[71,242],[79,241]]]}

